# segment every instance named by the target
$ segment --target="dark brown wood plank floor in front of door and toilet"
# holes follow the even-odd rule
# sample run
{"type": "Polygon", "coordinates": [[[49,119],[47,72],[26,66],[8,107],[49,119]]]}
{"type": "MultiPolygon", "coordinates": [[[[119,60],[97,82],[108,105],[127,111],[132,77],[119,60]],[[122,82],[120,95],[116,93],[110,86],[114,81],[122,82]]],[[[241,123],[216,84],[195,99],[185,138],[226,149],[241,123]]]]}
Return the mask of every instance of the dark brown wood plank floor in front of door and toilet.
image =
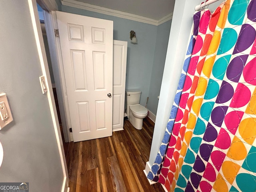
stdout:
{"type": "Polygon", "coordinates": [[[71,142],[67,165],[70,192],[164,192],[150,185],[143,170],[149,159],[154,123],[147,117],[142,130],[128,120],[111,137],[71,142]]]}

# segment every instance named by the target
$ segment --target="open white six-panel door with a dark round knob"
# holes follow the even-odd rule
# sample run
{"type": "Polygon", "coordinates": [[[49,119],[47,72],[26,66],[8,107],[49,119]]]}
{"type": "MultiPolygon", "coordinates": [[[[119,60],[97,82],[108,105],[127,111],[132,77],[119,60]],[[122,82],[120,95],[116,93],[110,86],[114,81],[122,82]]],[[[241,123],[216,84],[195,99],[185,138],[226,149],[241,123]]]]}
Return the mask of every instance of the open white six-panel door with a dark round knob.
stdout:
{"type": "Polygon", "coordinates": [[[111,136],[113,21],[56,14],[74,142],[111,136]]]}

